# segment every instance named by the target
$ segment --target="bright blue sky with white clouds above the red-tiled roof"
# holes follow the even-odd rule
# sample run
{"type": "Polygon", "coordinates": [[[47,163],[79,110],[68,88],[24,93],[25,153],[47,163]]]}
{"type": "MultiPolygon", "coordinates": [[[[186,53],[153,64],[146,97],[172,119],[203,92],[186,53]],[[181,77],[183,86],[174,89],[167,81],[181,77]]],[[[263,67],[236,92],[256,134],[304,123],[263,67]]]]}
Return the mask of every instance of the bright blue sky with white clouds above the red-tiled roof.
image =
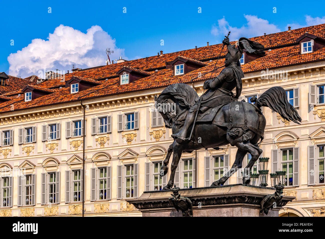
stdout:
{"type": "Polygon", "coordinates": [[[111,60],[121,55],[132,60],[160,50],[168,53],[220,43],[229,29],[230,40],[236,40],[284,31],[288,25],[294,29],[325,23],[324,8],[308,10],[302,7],[305,1],[228,3],[3,1],[0,72],[27,77],[44,68],[67,71],[72,63],[78,68],[104,65],[106,47],[114,49],[111,60]]]}

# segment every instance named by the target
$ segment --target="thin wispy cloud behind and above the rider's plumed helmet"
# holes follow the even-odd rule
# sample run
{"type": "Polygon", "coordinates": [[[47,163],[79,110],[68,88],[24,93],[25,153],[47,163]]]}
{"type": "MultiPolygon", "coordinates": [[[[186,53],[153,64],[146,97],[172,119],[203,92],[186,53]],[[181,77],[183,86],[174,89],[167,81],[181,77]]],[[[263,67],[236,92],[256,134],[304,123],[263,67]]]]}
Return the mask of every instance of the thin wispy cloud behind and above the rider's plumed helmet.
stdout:
{"type": "Polygon", "coordinates": [[[230,31],[231,33],[229,38],[231,41],[234,41],[239,39],[241,36],[253,37],[261,36],[264,33],[270,34],[280,32],[280,29],[276,25],[269,23],[268,20],[253,15],[244,14],[244,17],[247,23],[242,25],[240,28],[230,26],[229,22],[227,22],[225,17],[223,17],[218,20],[217,25],[212,26],[211,33],[220,37],[227,35],[230,31]]]}

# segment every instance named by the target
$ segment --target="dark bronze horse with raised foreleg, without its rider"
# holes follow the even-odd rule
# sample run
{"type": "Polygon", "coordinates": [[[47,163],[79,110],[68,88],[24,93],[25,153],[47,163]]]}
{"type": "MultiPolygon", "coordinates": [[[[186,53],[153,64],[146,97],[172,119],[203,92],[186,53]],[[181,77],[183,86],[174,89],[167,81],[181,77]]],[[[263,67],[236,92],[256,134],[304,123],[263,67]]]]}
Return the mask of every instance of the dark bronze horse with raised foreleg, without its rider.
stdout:
{"type": "MultiPolygon", "coordinates": [[[[171,128],[173,134],[182,129],[188,110],[195,104],[194,100],[197,98],[196,91],[184,83],[167,86],[159,97],[155,96],[155,107],[161,113],[166,128],[171,128]],[[168,107],[165,107],[166,105],[168,107]]],[[[301,122],[301,117],[288,102],[287,94],[282,87],[272,87],[258,99],[253,97],[251,102],[254,104],[237,101],[233,98],[232,102],[218,106],[215,110],[217,113],[210,121],[205,120],[209,113],[199,115],[192,138],[184,143],[174,140],[168,148],[161,167],[161,176],[166,175],[168,171],[167,165],[172,153],[173,161],[170,179],[163,190],[169,190],[174,185],[175,170],[183,152],[191,153],[202,148],[219,149],[220,146],[229,143],[238,148],[235,162],[231,169],[222,178],[213,182],[211,186],[223,185],[232,174],[241,168],[247,153],[251,154],[252,159],[243,170],[242,180],[243,184],[249,184],[251,168],[262,153],[258,143],[263,140],[266,119],[261,112],[261,107],[269,107],[286,120],[297,124],[301,122]]]]}

